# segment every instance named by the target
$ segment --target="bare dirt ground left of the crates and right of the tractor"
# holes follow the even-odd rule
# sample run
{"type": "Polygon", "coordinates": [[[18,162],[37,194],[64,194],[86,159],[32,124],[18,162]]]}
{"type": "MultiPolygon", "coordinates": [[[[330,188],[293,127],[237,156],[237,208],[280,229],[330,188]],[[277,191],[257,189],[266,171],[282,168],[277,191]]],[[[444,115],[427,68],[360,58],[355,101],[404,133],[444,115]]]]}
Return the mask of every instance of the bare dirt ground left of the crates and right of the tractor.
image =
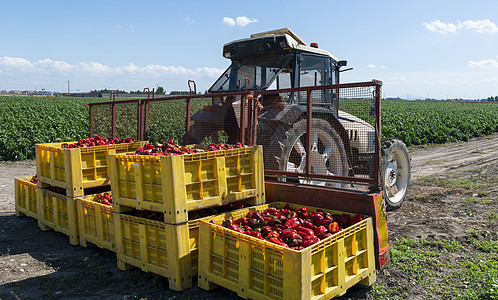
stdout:
{"type": "MultiPolygon", "coordinates": [[[[473,226],[488,228],[490,236],[486,238],[497,240],[496,222],[490,225],[486,219],[490,207],[462,199],[494,199],[492,209],[498,211],[498,133],[409,151],[412,185],[403,206],[387,214],[390,243],[402,237],[459,241],[465,229],[473,226]],[[430,180],[476,177],[484,183],[478,189],[435,186],[430,180]]],[[[36,220],[16,217],[14,177],[35,173],[34,161],[0,163],[0,299],[237,299],[222,288],[170,291],[167,280],[160,276],[118,270],[113,252],[91,245],[71,246],[66,235],[43,232],[36,220]]],[[[418,298],[417,287],[409,280],[390,275],[379,271],[377,282],[405,285],[406,293],[418,298]]],[[[354,287],[340,299],[373,296],[369,289],[354,287]]]]}

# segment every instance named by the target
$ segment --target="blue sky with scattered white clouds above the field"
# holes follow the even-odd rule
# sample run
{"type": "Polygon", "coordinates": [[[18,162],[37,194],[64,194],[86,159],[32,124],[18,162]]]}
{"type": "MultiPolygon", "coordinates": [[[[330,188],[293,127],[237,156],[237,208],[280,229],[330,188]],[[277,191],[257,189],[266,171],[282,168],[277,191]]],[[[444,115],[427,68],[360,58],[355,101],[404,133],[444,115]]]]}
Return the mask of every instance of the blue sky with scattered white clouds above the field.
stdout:
{"type": "Polygon", "coordinates": [[[291,28],[386,97],[498,95],[498,1],[0,2],[0,90],[208,89],[223,44],[291,28]]]}

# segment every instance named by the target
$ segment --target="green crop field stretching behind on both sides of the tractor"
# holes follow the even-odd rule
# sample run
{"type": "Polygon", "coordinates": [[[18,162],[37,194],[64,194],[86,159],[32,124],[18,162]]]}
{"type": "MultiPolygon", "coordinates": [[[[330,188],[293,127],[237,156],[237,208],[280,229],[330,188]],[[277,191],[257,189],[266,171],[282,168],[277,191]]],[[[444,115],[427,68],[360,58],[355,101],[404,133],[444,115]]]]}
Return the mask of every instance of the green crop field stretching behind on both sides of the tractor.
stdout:
{"type": "MultiPolygon", "coordinates": [[[[103,98],[0,97],[0,160],[34,158],[34,144],[75,141],[89,135],[88,102],[103,98]]],[[[209,100],[192,102],[192,113],[209,100]]],[[[94,133],[111,135],[109,106],[94,112],[94,133]]],[[[185,102],[150,104],[148,140],[179,141],[185,126],[185,102]]],[[[116,106],[116,136],[135,137],[137,106],[116,106]]],[[[498,103],[383,101],[382,135],[408,146],[466,141],[498,131],[498,103]]]]}

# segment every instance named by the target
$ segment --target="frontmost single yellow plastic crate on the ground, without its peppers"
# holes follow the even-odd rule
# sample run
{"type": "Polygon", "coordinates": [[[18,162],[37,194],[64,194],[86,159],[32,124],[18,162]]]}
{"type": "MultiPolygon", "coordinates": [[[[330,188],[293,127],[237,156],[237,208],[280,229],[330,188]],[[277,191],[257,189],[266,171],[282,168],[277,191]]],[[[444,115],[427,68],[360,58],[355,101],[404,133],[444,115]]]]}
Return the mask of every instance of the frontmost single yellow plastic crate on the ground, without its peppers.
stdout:
{"type": "Polygon", "coordinates": [[[211,219],[221,222],[245,216],[251,210],[283,205],[270,203],[202,221],[198,285],[206,290],[223,286],[244,298],[287,300],[331,299],[357,283],[375,282],[372,218],[301,251],[208,223],[211,219]]]}

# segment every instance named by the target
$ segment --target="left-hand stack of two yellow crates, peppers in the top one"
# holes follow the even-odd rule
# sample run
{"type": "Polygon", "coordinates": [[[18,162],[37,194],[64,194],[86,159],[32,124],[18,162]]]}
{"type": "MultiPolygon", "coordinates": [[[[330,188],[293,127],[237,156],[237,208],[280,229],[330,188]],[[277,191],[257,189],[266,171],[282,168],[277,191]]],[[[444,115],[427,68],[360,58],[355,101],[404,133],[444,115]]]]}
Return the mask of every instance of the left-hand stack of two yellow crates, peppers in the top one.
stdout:
{"type": "Polygon", "coordinates": [[[77,245],[76,198],[109,191],[109,154],[134,152],[144,142],[85,148],[62,148],[62,144],[35,146],[38,226],[65,233],[70,243],[77,245]]]}

